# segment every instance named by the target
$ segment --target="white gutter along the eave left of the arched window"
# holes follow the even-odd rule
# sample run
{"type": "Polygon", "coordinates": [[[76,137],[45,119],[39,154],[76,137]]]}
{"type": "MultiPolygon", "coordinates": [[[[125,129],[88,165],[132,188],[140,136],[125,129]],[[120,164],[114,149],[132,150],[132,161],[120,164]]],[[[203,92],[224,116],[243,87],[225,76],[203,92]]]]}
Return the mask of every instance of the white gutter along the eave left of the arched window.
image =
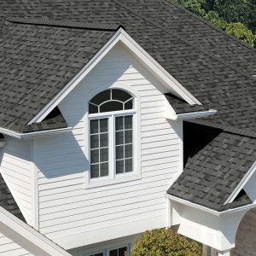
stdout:
{"type": "Polygon", "coordinates": [[[27,133],[20,133],[16,131],[10,131],[5,128],[0,128],[0,133],[8,135],[10,137],[16,137],[19,139],[32,139],[36,137],[48,137],[56,134],[61,134],[67,131],[72,131],[72,127],[55,129],[55,130],[47,130],[47,131],[35,131],[35,132],[27,132],[27,133]]]}

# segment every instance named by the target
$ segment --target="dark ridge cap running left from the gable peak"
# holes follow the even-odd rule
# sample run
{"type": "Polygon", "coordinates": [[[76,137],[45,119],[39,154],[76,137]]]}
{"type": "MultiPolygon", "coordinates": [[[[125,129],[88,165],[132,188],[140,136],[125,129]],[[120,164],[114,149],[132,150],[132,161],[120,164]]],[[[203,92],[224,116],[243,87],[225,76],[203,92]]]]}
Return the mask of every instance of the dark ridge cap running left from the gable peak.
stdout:
{"type": "Polygon", "coordinates": [[[22,18],[22,17],[15,17],[15,16],[4,17],[4,19],[9,22],[20,23],[20,24],[29,24],[29,25],[38,25],[38,26],[61,26],[61,27],[103,30],[103,31],[116,31],[121,26],[120,23],[102,24],[100,22],[49,20],[49,19],[38,19],[38,18],[22,18]]]}

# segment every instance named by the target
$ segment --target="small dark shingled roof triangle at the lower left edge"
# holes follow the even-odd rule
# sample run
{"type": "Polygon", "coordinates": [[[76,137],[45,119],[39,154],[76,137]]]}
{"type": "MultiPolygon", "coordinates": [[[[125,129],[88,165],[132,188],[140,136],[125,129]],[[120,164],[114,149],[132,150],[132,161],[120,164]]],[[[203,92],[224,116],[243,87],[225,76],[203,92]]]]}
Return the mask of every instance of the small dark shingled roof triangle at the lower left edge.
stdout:
{"type": "Polygon", "coordinates": [[[5,210],[11,212],[16,217],[25,221],[20,208],[17,206],[13,195],[10,193],[7,184],[4,182],[3,177],[0,173],[0,207],[3,207],[5,210]]]}

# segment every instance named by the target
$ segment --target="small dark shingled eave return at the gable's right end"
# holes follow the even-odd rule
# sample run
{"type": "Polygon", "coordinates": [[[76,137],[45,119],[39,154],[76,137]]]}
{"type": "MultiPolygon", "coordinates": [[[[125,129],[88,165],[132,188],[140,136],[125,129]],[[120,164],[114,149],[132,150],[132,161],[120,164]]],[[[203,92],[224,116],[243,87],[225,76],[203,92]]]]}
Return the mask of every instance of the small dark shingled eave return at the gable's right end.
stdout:
{"type": "Polygon", "coordinates": [[[175,113],[191,113],[191,112],[201,112],[209,110],[206,106],[203,105],[189,105],[188,102],[183,101],[177,96],[173,96],[171,93],[166,94],[166,99],[174,109],[175,113]]]}

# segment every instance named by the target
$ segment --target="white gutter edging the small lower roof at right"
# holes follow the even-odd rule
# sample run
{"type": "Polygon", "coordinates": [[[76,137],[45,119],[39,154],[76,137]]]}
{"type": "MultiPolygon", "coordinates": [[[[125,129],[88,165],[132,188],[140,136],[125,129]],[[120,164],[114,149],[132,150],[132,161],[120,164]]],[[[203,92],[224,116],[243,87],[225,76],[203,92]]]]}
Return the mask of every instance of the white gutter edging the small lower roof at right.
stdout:
{"type": "Polygon", "coordinates": [[[226,210],[224,212],[218,212],[218,211],[212,210],[211,208],[203,207],[201,205],[195,204],[191,201],[187,201],[187,200],[178,198],[178,197],[173,196],[173,195],[166,194],[165,196],[166,196],[166,198],[168,198],[171,201],[177,201],[178,203],[181,203],[185,206],[189,206],[189,207],[201,210],[203,212],[208,212],[208,213],[210,213],[212,215],[215,215],[215,216],[218,216],[218,217],[220,217],[222,215],[225,215],[225,214],[230,214],[230,213],[234,213],[234,212],[241,212],[241,211],[249,210],[249,209],[252,209],[253,207],[256,206],[256,203],[253,203],[253,204],[250,204],[250,205],[247,205],[247,206],[237,207],[235,209],[226,210]]]}

